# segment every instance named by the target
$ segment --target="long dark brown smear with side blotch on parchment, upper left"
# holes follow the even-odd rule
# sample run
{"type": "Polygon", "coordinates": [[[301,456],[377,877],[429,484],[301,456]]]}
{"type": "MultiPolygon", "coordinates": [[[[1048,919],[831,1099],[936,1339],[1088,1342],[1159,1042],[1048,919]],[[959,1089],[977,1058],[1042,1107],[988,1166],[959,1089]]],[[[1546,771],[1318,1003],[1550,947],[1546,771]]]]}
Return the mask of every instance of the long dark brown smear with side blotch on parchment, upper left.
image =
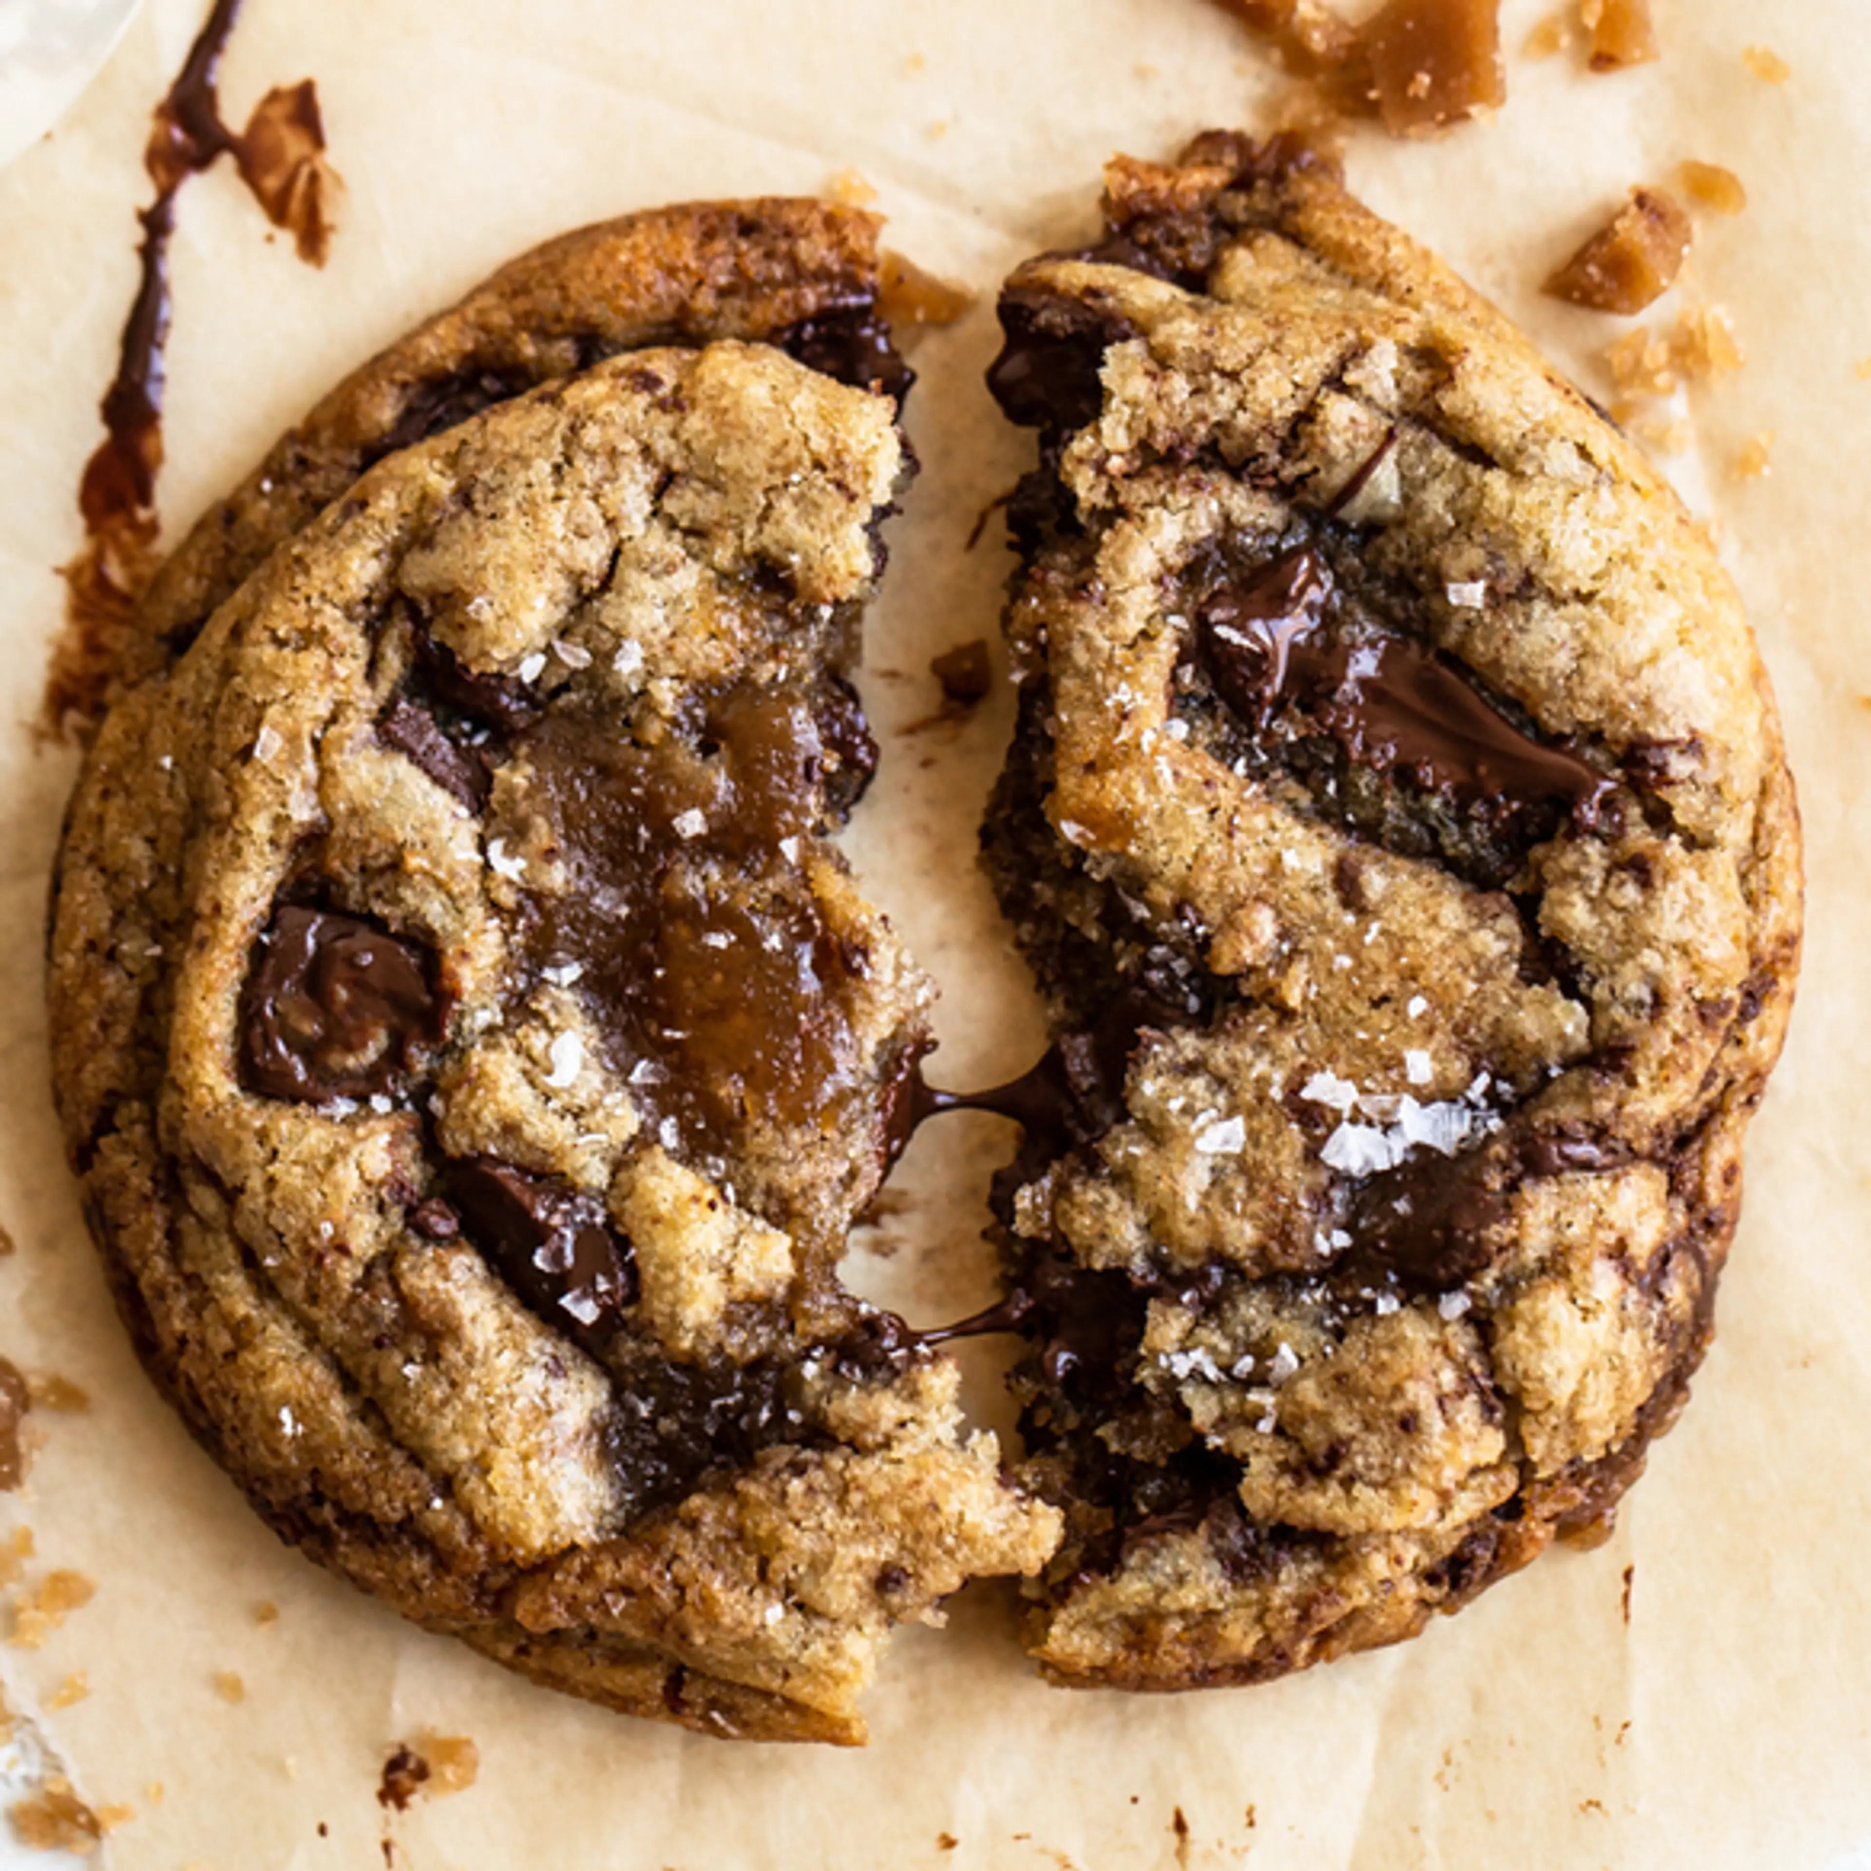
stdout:
{"type": "Polygon", "coordinates": [[[163,468],[163,352],[168,342],[168,241],[176,198],[189,176],[234,159],[262,213],[292,234],[301,260],[324,266],[331,249],[337,172],[326,163],[326,129],[312,79],[275,84],[236,131],[221,116],[217,82],[241,0],[215,0],[168,94],[155,107],[142,167],[155,200],[142,226],[138,284],[118,344],[116,376],[99,413],[105,440],[84,464],[79,513],[84,546],[60,567],[65,631],[52,647],[45,726],[94,722],[135,629],[137,602],[155,573],[161,518],[155,483],[163,468]]]}

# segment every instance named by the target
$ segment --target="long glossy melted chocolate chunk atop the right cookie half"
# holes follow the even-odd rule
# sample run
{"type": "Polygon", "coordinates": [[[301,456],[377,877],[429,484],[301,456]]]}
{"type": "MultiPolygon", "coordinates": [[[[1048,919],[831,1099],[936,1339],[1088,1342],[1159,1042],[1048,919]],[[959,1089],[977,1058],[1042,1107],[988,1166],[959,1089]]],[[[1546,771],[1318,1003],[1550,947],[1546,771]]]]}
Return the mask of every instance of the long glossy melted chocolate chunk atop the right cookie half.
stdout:
{"type": "Polygon", "coordinates": [[[1345,756],[1401,773],[1429,793],[1512,814],[1562,806],[1596,823],[1613,780],[1521,733],[1435,651],[1388,631],[1327,619],[1330,567],[1298,546],[1224,578],[1196,612],[1196,649],[1222,700],[1255,732],[1291,707],[1345,756]]]}

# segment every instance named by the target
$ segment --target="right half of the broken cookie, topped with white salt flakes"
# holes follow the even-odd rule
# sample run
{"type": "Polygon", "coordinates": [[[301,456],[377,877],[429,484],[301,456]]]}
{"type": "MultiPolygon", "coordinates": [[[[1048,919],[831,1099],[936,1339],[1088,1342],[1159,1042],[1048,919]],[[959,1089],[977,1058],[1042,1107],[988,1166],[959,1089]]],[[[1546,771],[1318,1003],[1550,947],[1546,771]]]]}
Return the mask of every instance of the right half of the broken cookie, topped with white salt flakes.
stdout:
{"type": "Polygon", "coordinates": [[[1001,320],[1029,1643],[1250,1682],[1609,1529],[1712,1332],[1792,786],[1671,490],[1297,146],[1119,159],[1001,320]]]}

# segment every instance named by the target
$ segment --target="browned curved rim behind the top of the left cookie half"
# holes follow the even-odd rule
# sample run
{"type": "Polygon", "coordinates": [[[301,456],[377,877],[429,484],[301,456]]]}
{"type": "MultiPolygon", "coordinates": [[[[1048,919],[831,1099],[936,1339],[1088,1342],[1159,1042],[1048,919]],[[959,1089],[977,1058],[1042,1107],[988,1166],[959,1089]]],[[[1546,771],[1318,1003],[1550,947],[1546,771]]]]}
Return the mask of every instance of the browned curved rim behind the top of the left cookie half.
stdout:
{"type": "Polygon", "coordinates": [[[913,374],[877,311],[881,225],[808,198],[683,202],[511,260],[281,436],[165,559],[120,634],[62,645],[52,705],[94,722],[123,687],[187,649],[247,574],[372,464],[602,357],[745,339],[902,397],[913,374]]]}

